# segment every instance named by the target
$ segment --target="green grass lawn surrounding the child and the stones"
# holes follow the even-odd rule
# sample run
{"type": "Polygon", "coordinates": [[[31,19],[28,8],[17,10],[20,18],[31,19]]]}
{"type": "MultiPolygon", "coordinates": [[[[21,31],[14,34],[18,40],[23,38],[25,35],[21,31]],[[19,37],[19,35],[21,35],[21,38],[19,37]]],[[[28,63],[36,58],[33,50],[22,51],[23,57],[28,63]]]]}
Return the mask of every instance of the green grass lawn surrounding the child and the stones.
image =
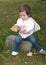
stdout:
{"type": "Polygon", "coordinates": [[[43,55],[27,57],[20,50],[16,57],[11,56],[11,50],[5,46],[8,35],[16,34],[9,28],[16,23],[18,9],[27,3],[31,7],[32,17],[40,24],[41,31],[36,33],[40,45],[46,50],[46,2],[40,0],[0,0],[0,65],[46,65],[43,55]]]}

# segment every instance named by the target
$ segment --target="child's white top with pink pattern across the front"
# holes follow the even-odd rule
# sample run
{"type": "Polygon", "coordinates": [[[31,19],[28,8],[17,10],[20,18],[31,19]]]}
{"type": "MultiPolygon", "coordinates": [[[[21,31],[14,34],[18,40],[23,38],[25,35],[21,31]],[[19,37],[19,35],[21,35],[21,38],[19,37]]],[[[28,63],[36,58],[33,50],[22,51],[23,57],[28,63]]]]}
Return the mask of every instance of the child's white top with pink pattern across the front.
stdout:
{"type": "Polygon", "coordinates": [[[17,23],[15,25],[18,25],[20,27],[19,34],[22,36],[22,38],[27,38],[34,33],[34,22],[36,21],[32,17],[29,17],[27,20],[23,20],[21,18],[17,20],[17,23]],[[26,32],[21,32],[21,29],[23,28],[26,29],[26,32]]]}

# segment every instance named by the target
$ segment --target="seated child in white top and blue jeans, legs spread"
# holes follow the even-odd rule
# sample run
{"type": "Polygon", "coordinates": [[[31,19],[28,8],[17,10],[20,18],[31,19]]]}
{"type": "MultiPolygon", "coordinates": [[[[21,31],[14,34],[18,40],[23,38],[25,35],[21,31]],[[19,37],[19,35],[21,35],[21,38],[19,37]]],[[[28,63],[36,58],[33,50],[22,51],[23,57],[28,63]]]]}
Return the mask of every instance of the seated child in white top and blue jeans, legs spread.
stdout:
{"type": "MultiPolygon", "coordinates": [[[[39,51],[40,54],[46,55],[46,51],[40,47],[34,35],[34,32],[40,30],[40,26],[31,17],[32,13],[30,11],[30,7],[27,4],[20,7],[19,16],[20,18],[14,25],[19,27],[19,35],[15,39],[12,55],[19,54],[19,46],[23,40],[28,40],[39,51]]],[[[30,56],[30,52],[27,54],[27,56],[30,56]]]]}

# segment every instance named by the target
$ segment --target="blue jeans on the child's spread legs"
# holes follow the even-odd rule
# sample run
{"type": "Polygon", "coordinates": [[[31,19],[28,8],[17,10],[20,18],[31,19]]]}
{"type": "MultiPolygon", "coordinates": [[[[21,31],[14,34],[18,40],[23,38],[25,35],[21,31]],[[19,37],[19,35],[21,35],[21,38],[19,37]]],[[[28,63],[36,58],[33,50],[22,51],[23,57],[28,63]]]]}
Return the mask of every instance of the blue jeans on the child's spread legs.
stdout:
{"type": "Polygon", "coordinates": [[[13,46],[13,51],[15,52],[18,52],[19,51],[19,47],[20,47],[20,44],[23,40],[27,40],[29,42],[32,43],[32,45],[38,50],[40,51],[42,48],[40,47],[36,37],[34,34],[30,35],[29,37],[23,39],[20,35],[18,35],[15,39],[15,42],[14,42],[14,46],[13,46]]]}

